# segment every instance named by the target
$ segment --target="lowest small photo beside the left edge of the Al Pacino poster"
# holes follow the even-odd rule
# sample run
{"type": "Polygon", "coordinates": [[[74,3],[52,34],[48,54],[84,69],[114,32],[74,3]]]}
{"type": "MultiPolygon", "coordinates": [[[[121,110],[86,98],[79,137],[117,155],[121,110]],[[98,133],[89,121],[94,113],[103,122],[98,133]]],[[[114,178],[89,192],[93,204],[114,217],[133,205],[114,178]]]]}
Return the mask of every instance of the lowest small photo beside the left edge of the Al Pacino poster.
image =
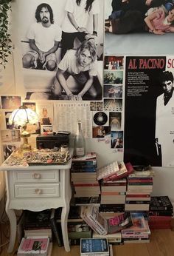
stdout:
{"type": "Polygon", "coordinates": [[[122,152],[123,149],[123,131],[111,132],[111,149],[116,149],[116,152],[122,152]]]}

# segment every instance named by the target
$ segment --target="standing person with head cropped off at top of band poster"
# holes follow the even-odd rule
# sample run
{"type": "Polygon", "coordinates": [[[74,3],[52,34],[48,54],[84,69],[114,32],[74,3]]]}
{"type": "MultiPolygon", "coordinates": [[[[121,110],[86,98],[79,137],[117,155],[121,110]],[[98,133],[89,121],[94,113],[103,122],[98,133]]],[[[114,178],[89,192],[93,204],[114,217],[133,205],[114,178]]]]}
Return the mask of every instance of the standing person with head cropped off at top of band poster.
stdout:
{"type": "Polygon", "coordinates": [[[66,0],[66,17],[62,24],[62,58],[66,50],[74,48],[74,39],[81,42],[89,37],[97,36],[99,0],[66,0]],[[90,16],[93,16],[93,32],[87,29],[90,16]]]}

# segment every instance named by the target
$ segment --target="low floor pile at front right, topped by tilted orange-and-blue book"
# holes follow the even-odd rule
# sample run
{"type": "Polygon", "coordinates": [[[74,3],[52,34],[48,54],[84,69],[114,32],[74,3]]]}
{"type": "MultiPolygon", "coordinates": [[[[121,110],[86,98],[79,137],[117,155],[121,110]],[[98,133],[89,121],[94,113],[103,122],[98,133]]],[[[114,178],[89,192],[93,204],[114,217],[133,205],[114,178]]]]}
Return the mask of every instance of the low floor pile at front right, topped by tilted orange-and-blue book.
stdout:
{"type": "Polygon", "coordinates": [[[121,231],[124,243],[149,243],[150,229],[147,220],[138,212],[131,212],[130,216],[133,225],[121,231]]]}

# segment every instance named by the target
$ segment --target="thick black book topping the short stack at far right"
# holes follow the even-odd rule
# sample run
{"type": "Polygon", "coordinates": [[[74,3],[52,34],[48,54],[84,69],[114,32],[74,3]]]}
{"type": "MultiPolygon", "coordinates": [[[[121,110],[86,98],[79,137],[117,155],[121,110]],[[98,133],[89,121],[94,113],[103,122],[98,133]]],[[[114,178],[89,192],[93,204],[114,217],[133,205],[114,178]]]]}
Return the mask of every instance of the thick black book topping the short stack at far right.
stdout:
{"type": "Polygon", "coordinates": [[[150,198],[150,211],[153,210],[173,210],[173,205],[168,196],[152,196],[150,198]]]}

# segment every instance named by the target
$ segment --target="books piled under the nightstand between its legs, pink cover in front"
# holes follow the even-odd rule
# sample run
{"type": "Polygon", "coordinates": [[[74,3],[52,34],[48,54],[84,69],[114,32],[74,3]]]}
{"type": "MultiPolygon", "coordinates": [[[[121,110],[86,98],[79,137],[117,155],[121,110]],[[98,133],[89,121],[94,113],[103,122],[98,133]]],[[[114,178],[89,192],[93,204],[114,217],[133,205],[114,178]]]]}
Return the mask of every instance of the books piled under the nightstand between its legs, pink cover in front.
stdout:
{"type": "Polygon", "coordinates": [[[52,209],[41,212],[24,211],[24,238],[18,247],[18,256],[52,255],[52,209]]]}

